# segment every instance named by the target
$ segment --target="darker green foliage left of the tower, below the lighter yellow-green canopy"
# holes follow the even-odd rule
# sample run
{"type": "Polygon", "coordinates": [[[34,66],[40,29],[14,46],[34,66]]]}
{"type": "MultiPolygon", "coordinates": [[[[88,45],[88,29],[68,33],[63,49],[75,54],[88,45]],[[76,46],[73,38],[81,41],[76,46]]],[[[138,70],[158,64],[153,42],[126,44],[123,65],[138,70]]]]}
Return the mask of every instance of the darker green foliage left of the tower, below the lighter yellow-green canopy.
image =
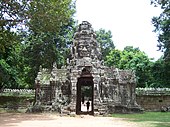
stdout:
{"type": "MultiPolygon", "coordinates": [[[[43,68],[52,69],[56,62],[58,68],[66,65],[66,58],[69,54],[69,45],[72,42],[74,33],[74,21],[62,27],[59,33],[38,33],[30,34],[25,41],[23,51],[24,64],[28,67],[26,82],[33,84],[40,65],[43,68]]],[[[30,88],[32,88],[30,86],[30,88]]]]}

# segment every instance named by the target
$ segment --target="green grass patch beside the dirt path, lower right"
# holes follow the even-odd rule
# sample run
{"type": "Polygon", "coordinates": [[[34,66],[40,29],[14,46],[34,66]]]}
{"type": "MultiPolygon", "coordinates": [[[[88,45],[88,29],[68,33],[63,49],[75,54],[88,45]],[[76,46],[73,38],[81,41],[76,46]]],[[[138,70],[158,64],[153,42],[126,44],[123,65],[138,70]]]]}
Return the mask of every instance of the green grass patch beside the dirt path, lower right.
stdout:
{"type": "Polygon", "coordinates": [[[170,127],[170,112],[145,112],[142,114],[113,114],[113,117],[146,123],[152,127],[170,127]]]}

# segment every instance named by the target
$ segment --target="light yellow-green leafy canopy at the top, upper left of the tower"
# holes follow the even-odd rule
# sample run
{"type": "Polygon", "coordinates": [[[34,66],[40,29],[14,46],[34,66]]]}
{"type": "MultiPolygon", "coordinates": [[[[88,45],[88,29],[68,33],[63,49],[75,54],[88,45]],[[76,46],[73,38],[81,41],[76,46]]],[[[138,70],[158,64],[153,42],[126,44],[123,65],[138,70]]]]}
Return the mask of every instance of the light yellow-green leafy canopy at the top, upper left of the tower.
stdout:
{"type": "Polygon", "coordinates": [[[58,33],[75,12],[72,0],[33,0],[29,7],[28,26],[35,33],[58,33]]]}

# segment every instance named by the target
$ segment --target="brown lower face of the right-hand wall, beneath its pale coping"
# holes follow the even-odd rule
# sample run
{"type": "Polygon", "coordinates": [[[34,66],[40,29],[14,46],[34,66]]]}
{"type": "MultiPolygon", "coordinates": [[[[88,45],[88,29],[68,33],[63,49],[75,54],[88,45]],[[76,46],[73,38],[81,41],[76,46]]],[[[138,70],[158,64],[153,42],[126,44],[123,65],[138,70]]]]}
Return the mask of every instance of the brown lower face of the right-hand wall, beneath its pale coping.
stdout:
{"type": "Polygon", "coordinates": [[[136,100],[145,111],[161,111],[170,106],[170,95],[137,95],[136,100]]]}

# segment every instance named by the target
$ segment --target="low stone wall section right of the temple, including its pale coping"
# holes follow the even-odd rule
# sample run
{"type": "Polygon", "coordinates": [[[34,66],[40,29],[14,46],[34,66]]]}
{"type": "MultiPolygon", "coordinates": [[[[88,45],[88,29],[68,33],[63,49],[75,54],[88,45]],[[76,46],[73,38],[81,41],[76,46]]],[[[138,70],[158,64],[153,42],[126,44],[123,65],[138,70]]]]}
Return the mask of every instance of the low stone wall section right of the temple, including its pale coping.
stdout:
{"type": "Polygon", "coordinates": [[[136,101],[145,111],[165,110],[170,107],[170,88],[136,88],[136,101]]]}

